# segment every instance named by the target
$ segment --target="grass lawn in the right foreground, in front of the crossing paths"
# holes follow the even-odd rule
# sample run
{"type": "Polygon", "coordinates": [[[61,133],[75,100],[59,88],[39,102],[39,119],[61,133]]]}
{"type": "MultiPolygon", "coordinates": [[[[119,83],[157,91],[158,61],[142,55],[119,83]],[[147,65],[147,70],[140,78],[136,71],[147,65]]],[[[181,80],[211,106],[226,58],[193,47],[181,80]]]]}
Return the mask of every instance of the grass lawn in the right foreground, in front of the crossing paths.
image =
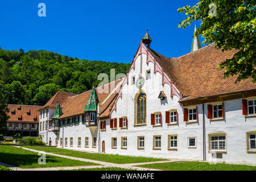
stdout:
{"type": "Polygon", "coordinates": [[[256,166],[234,165],[225,163],[210,164],[207,162],[170,162],[146,164],[137,167],[162,169],[165,171],[256,171],[256,166]]]}

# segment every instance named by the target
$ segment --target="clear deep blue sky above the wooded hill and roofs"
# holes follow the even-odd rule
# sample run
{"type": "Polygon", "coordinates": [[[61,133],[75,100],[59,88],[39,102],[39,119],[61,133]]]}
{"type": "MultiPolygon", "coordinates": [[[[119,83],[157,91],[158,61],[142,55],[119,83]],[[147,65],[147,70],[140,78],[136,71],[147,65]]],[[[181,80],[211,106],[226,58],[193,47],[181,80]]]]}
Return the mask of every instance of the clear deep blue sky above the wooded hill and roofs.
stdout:
{"type": "Polygon", "coordinates": [[[191,49],[194,24],[178,28],[186,16],[177,9],[197,2],[1,0],[0,46],[131,63],[148,28],[152,49],[167,57],[178,57],[191,49]],[[46,17],[38,16],[41,2],[46,4],[46,17]]]}

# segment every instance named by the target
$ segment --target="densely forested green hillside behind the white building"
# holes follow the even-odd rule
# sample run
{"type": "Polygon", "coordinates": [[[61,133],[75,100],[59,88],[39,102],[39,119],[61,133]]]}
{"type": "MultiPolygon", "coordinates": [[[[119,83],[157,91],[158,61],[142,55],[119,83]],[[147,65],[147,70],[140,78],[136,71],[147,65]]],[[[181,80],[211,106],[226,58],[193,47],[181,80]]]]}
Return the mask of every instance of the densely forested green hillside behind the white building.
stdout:
{"type": "Polygon", "coordinates": [[[79,60],[49,51],[7,51],[0,48],[0,90],[8,104],[44,105],[58,91],[82,93],[92,89],[99,73],[110,78],[126,73],[130,64],[79,60]]]}

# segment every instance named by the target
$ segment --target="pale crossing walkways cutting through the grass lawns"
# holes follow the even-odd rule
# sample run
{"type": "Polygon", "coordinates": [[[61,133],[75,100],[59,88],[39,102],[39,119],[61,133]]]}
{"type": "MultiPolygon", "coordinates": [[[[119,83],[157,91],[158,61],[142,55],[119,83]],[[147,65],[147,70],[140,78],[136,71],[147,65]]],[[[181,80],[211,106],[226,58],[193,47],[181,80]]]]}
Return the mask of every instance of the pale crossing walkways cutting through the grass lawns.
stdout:
{"type": "MultiPolygon", "coordinates": [[[[34,150],[31,148],[25,148],[25,147],[20,147],[20,146],[15,146],[17,148],[23,148],[24,150],[32,151],[32,152],[44,152],[44,151],[38,151],[34,150]]],[[[49,168],[30,168],[30,169],[24,169],[24,168],[18,168],[18,167],[11,167],[14,170],[17,171],[56,171],[56,170],[71,170],[71,169],[81,169],[81,168],[105,168],[105,167],[118,167],[118,168],[125,168],[125,169],[133,169],[133,170],[138,170],[138,171],[161,171],[159,169],[150,169],[150,168],[142,168],[142,167],[135,167],[138,165],[143,165],[143,164],[155,164],[155,163],[168,163],[168,162],[175,162],[177,160],[164,160],[164,161],[156,161],[156,162],[144,162],[144,163],[133,163],[133,164],[115,164],[115,163],[109,163],[109,162],[102,162],[98,160],[92,160],[92,159],[84,159],[84,158],[76,158],[72,156],[65,156],[65,155],[60,155],[60,154],[55,154],[51,152],[44,152],[46,155],[52,155],[52,156],[57,156],[60,158],[67,158],[67,159],[73,159],[73,160],[80,160],[82,162],[91,162],[91,163],[96,163],[100,164],[101,166],[79,166],[79,167],[49,167],[49,168]]],[[[5,166],[5,165],[2,165],[5,166]]]]}

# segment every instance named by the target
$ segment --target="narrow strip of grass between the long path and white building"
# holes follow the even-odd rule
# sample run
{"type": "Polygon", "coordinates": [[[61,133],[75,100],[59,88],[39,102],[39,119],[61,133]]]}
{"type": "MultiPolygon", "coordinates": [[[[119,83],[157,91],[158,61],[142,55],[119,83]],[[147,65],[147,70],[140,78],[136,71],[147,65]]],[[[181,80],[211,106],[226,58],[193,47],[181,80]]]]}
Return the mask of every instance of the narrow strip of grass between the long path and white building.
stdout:
{"type": "Polygon", "coordinates": [[[115,164],[154,162],[154,161],[164,160],[164,159],[156,159],[156,158],[131,157],[131,156],[122,156],[122,155],[109,155],[109,154],[97,154],[97,153],[92,154],[92,153],[83,152],[83,151],[73,151],[73,150],[67,150],[67,149],[55,148],[55,147],[41,147],[41,146],[24,146],[24,147],[32,148],[34,150],[52,152],[60,155],[99,160],[99,161],[110,162],[115,164]]]}

